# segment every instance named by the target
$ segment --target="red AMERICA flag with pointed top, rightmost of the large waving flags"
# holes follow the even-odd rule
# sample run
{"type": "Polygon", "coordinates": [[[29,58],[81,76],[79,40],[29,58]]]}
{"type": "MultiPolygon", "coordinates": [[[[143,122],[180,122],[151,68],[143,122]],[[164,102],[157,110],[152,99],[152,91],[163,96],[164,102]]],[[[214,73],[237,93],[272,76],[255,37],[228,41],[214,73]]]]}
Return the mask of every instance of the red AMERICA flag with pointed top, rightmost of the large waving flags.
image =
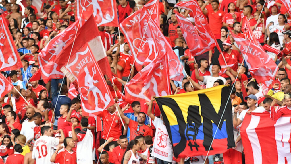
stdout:
{"type": "Polygon", "coordinates": [[[278,71],[278,66],[274,60],[272,60],[272,58],[262,50],[260,46],[250,43],[246,39],[235,35],[232,31],[230,32],[237,43],[239,50],[244,56],[244,60],[246,61],[251,75],[258,83],[264,83],[266,86],[272,84],[278,71]]]}

